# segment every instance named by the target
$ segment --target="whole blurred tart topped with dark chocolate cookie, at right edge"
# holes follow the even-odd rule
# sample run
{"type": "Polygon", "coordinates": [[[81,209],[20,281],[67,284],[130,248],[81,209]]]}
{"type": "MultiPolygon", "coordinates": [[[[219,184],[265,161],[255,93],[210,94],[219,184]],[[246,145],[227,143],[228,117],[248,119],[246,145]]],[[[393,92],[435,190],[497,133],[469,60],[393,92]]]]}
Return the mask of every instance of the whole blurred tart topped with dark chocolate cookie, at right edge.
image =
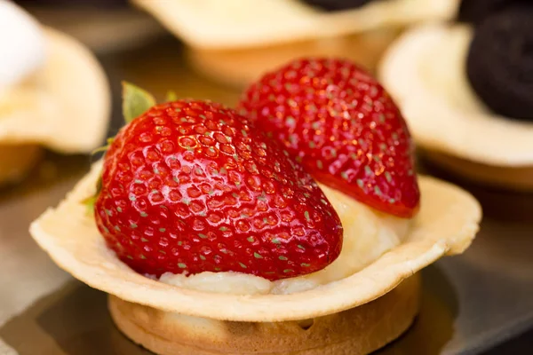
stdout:
{"type": "Polygon", "coordinates": [[[410,30],[380,77],[428,160],[481,185],[533,191],[533,5],[488,3],[498,11],[410,30]]]}

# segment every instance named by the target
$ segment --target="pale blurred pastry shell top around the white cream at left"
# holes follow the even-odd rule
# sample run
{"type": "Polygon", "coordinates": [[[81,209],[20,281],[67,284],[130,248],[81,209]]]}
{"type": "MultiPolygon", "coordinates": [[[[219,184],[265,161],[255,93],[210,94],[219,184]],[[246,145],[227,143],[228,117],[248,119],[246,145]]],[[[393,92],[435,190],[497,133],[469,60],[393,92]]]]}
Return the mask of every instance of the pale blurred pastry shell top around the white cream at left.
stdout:
{"type": "Polygon", "coordinates": [[[91,152],[107,131],[110,92],[97,59],[70,36],[44,28],[44,67],[0,97],[0,142],[91,152]]]}

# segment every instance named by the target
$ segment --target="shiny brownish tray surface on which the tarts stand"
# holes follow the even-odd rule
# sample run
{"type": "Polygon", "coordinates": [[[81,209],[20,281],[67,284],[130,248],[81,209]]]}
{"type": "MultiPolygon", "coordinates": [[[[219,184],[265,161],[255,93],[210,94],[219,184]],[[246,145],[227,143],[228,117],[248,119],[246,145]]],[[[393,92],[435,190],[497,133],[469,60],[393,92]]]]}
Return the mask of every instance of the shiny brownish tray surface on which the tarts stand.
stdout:
{"type": "MultiPolygon", "coordinates": [[[[149,47],[104,55],[110,81],[126,77],[159,97],[175,86],[179,96],[227,104],[238,99],[238,92],[191,74],[174,40],[163,38],[149,47]],[[143,76],[140,67],[156,75],[143,76]]],[[[117,106],[120,91],[115,89],[117,106]]],[[[114,120],[110,133],[122,117],[117,113],[114,120]]],[[[0,193],[0,281],[7,285],[0,291],[2,355],[149,354],[115,328],[105,294],[60,271],[28,234],[27,225],[57,205],[95,160],[50,154],[26,183],[0,193]]],[[[533,196],[465,187],[488,211],[476,241],[463,256],[446,258],[422,272],[418,319],[379,354],[476,354],[533,325],[533,261],[528,255],[533,224],[520,220],[520,211],[533,206],[533,196]]]]}

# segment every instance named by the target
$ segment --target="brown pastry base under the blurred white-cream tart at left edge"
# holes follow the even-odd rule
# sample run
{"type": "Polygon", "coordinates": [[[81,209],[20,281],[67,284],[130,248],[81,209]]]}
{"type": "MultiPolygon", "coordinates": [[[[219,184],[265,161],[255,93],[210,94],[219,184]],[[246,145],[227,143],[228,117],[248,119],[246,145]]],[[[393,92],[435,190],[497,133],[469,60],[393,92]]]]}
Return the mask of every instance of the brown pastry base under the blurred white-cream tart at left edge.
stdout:
{"type": "Polygon", "coordinates": [[[36,145],[0,145],[0,185],[25,177],[43,153],[36,145]]]}

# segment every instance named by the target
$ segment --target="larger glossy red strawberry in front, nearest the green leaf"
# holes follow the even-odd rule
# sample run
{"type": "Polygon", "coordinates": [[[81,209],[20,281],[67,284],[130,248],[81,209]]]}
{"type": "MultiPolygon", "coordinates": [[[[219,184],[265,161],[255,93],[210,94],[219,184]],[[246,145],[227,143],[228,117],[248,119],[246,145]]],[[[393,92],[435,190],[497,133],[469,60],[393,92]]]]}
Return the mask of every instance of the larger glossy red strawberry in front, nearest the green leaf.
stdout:
{"type": "Polygon", "coordinates": [[[338,215],[313,178],[246,118],[211,102],[151,106],[123,127],[94,207],[107,246],[155,276],[279,280],[321,270],[342,245],[338,215]]]}

